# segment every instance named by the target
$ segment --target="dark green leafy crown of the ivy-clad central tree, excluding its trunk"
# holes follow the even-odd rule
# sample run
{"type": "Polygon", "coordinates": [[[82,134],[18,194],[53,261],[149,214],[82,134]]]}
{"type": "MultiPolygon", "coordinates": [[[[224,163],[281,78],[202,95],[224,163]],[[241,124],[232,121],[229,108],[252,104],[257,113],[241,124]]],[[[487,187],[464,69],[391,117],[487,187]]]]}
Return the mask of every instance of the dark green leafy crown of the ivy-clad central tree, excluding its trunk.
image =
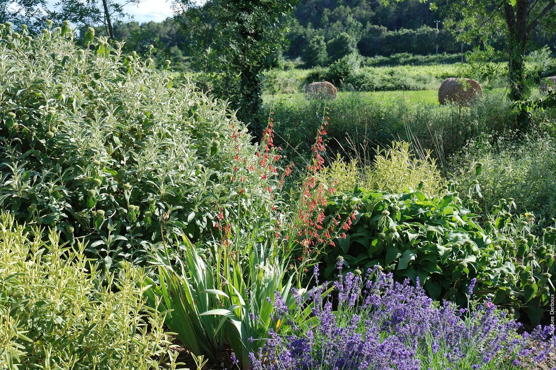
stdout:
{"type": "MultiPolygon", "coordinates": [[[[294,1],[211,0],[198,6],[178,0],[175,21],[191,37],[191,55],[209,52],[210,65],[234,65],[240,70],[265,67],[265,58],[284,46],[294,1]]],[[[205,62],[199,69],[205,70],[205,62]]]]}

